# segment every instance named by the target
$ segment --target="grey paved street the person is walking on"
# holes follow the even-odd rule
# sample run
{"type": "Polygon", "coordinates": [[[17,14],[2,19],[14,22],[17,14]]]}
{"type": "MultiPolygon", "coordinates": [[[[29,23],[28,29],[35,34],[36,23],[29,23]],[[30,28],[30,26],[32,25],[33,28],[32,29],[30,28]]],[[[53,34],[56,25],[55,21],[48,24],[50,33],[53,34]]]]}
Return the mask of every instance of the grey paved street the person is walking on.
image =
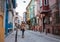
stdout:
{"type": "MultiPolygon", "coordinates": [[[[17,42],[59,42],[58,40],[38,35],[33,31],[25,31],[25,37],[21,38],[21,31],[18,32],[17,42]]],[[[5,42],[15,42],[15,31],[5,38],[5,42]]]]}

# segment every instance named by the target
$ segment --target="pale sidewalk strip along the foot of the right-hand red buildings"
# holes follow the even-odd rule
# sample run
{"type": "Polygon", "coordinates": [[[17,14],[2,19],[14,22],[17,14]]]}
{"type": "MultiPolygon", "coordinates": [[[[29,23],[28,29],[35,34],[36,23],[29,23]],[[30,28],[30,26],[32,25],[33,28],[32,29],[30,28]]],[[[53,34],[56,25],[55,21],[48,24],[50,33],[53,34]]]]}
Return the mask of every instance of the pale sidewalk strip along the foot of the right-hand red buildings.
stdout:
{"type": "Polygon", "coordinates": [[[40,32],[35,32],[35,31],[30,31],[31,33],[35,33],[35,35],[42,35],[44,37],[47,37],[49,39],[53,39],[53,40],[57,40],[60,42],[60,36],[57,36],[57,35],[53,35],[53,34],[45,34],[45,33],[40,33],[40,32]]]}

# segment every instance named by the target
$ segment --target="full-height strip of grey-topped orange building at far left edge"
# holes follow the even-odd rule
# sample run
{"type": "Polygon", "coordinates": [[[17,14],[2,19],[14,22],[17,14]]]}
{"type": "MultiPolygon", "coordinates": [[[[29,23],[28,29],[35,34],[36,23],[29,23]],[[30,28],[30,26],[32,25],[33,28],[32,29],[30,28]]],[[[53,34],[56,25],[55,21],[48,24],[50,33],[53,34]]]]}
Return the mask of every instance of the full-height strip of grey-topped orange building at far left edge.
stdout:
{"type": "Polygon", "coordinates": [[[0,42],[4,42],[4,0],[0,0],[0,42]]]}

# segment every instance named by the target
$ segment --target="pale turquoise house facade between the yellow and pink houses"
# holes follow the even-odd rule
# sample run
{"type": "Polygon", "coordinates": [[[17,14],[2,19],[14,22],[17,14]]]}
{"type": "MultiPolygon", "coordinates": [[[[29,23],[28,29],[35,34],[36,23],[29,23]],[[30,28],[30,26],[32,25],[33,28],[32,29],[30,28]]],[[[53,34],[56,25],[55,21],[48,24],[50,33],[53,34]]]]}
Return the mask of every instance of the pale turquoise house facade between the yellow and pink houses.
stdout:
{"type": "Polygon", "coordinates": [[[35,0],[31,0],[31,4],[29,7],[29,11],[30,11],[30,21],[31,21],[31,25],[35,26],[35,4],[34,4],[35,0]]]}

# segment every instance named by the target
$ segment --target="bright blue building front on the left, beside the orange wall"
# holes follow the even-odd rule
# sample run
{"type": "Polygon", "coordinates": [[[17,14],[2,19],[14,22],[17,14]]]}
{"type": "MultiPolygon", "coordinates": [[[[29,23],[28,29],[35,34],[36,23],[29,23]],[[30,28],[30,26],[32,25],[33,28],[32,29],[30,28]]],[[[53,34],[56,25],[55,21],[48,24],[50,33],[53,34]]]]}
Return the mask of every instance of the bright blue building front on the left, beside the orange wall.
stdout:
{"type": "Polygon", "coordinates": [[[5,34],[8,35],[8,29],[13,28],[13,9],[16,8],[16,0],[5,1],[5,34]],[[10,13],[9,13],[10,12],[10,13]],[[12,14],[12,22],[9,22],[9,16],[12,14]]]}

